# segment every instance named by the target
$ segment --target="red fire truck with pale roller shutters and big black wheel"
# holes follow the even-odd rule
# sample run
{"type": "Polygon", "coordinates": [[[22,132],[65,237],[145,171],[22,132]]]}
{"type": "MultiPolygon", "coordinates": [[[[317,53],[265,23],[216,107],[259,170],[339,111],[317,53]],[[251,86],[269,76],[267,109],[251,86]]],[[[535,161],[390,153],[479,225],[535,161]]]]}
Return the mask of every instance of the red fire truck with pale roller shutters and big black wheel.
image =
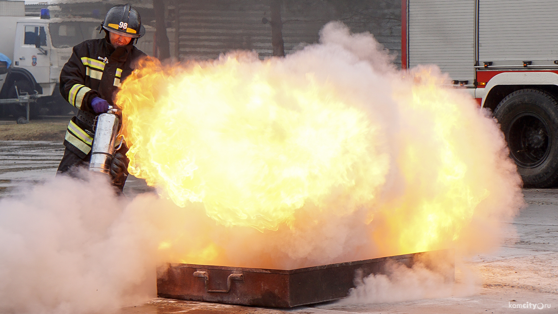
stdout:
{"type": "Polygon", "coordinates": [[[402,67],[436,64],[492,110],[525,187],[558,184],[558,1],[402,0],[402,67]]]}

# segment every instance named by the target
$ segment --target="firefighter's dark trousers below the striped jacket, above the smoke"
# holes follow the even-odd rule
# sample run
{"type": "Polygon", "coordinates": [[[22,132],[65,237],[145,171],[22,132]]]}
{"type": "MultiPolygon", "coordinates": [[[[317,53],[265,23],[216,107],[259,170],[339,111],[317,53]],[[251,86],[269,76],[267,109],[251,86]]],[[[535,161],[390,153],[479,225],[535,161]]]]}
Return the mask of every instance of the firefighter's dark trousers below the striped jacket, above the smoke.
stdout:
{"type": "MultiPolygon", "coordinates": [[[[117,152],[122,153],[126,156],[126,152],[128,148],[123,145],[117,152]]],[[[116,153],[115,153],[116,154],[116,153]]],[[[68,148],[64,150],[64,156],[62,156],[62,160],[60,161],[60,165],[58,165],[58,170],[56,170],[56,175],[68,175],[74,178],[80,178],[80,171],[88,170],[89,168],[89,159],[91,155],[88,154],[85,158],[80,158],[75,153],[71,152],[68,148]]],[[[126,166],[128,166],[128,160],[124,161],[126,166]]],[[[112,185],[116,187],[117,192],[122,194],[122,190],[124,189],[124,183],[126,183],[126,178],[128,177],[128,169],[124,168],[122,173],[119,173],[117,177],[111,177],[112,185]]]]}

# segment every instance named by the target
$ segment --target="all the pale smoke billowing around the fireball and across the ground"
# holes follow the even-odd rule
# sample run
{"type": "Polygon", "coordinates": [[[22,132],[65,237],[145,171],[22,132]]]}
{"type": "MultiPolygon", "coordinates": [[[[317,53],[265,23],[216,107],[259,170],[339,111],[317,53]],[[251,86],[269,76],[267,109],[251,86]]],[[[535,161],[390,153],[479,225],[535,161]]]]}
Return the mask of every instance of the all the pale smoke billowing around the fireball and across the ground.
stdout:
{"type": "MultiPolygon", "coordinates": [[[[247,60],[259,62],[249,54],[247,60]]],[[[412,86],[420,85],[422,78],[438,80],[439,85],[446,78],[435,67],[400,73],[391,60],[372,35],[351,34],[346,26],[330,23],[321,31],[321,44],[275,61],[278,78],[281,71],[289,74],[287,78],[311,73],[316,81],[343,90],[348,103],[365,110],[379,125],[382,137],[374,140],[380,154],[387,156],[382,160],[387,166],[374,178],[378,194],[368,206],[353,208],[344,191],[334,190],[332,204],[343,204],[346,210],[315,214],[313,205],[305,204],[291,225],[261,232],[217,225],[200,204],[179,208],[153,195],[118,198],[97,176],[57,177],[28,187],[19,196],[0,199],[0,312],[91,313],[146,301],[155,296],[157,265],[192,258],[193,252],[203,251],[207,260],[219,254],[224,265],[280,269],[394,255],[398,251],[391,252],[391,244],[384,240],[394,230],[413,226],[413,206],[421,205],[413,203],[413,196],[439,192],[435,173],[429,170],[429,165],[444,162],[431,153],[439,144],[439,138],[432,137],[435,114],[470,121],[466,129],[452,131],[469,167],[463,180],[480,178],[490,186],[459,237],[450,237],[444,245],[460,254],[496,247],[501,230],[495,226],[521,206],[521,180],[507,157],[498,125],[460,91],[444,94],[450,95],[448,104],[466,108],[458,111],[459,117],[452,117],[452,108],[433,112],[413,108],[405,98],[412,86]],[[422,144],[413,152],[424,165],[416,169],[415,177],[403,173],[407,164],[401,161],[409,153],[402,151],[406,142],[422,144]],[[405,210],[389,210],[396,207],[405,210]],[[388,223],[393,215],[402,217],[403,227],[388,223]]],[[[389,274],[363,278],[348,301],[455,294],[447,278],[431,269],[393,265],[389,274]]]]}

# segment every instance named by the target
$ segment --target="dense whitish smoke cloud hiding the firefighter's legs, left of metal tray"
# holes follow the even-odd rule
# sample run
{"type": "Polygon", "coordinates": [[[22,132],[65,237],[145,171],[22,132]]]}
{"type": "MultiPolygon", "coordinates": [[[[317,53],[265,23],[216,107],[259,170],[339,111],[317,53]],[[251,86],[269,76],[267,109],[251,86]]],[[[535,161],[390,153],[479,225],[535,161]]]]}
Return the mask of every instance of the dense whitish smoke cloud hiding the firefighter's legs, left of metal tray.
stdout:
{"type": "Polygon", "coordinates": [[[0,312],[89,313],[147,300],[157,243],[146,226],[104,177],[57,177],[0,199],[0,312]]]}

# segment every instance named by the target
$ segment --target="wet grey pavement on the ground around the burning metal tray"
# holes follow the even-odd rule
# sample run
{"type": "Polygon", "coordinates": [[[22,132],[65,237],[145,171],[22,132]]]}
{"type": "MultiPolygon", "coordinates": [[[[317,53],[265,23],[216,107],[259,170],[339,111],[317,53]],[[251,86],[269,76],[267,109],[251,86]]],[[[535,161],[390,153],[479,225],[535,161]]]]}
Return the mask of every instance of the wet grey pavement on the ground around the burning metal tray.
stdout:
{"type": "MultiPolygon", "coordinates": [[[[16,193],[18,185],[49,180],[55,175],[63,152],[61,142],[0,141],[0,197],[16,193]]],[[[145,181],[129,177],[124,194],[152,190],[145,181]]],[[[512,228],[502,247],[465,260],[481,283],[476,292],[464,297],[372,305],[328,302],[289,310],[154,298],[143,305],[122,308],[118,313],[492,314],[532,310],[517,308],[527,302],[550,305],[531,313],[558,313],[558,190],[526,189],[523,193],[528,206],[508,224],[512,228]]]]}

